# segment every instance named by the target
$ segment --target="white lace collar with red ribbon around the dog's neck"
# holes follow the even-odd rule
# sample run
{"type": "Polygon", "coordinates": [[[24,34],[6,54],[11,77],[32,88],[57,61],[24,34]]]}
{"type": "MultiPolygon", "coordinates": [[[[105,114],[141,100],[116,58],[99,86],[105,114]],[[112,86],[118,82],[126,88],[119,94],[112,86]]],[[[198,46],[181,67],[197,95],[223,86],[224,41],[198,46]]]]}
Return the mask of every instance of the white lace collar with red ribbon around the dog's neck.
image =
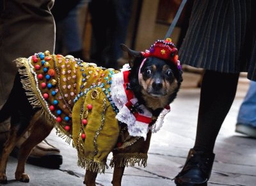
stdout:
{"type": "MultiPolygon", "coordinates": [[[[138,99],[126,89],[126,79],[129,74],[129,66],[124,66],[120,73],[116,73],[112,76],[111,83],[111,97],[115,106],[118,108],[119,112],[116,114],[116,119],[120,122],[127,124],[128,132],[131,136],[142,136],[144,140],[147,138],[147,132],[152,130],[152,132],[157,132],[163,125],[164,116],[170,111],[170,107],[164,108],[160,113],[157,121],[151,127],[148,124],[151,122],[152,113],[147,110],[147,108],[138,103],[138,99]],[[128,94],[128,95],[127,95],[128,94]],[[128,97],[128,98],[127,98],[128,97]],[[135,112],[131,112],[132,108],[136,107],[135,112]]],[[[130,90],[131,91],[131,90],[130,90]]]]}

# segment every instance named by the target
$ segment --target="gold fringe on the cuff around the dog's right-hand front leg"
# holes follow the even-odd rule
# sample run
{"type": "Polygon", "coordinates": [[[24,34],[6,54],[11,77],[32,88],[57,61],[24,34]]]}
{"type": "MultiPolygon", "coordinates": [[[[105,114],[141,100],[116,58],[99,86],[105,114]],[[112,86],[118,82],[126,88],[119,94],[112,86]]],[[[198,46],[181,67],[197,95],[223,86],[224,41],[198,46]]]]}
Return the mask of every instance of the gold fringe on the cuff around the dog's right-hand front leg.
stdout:
{"type": "Polygon", "coordinates": [[[134,166],[136,163],[138,166],[147,166],[148,155],[143,153],[120,153],[113,155],[109,166],[113,168],[114,166],[120,167],[128,167],[134,166]]]}

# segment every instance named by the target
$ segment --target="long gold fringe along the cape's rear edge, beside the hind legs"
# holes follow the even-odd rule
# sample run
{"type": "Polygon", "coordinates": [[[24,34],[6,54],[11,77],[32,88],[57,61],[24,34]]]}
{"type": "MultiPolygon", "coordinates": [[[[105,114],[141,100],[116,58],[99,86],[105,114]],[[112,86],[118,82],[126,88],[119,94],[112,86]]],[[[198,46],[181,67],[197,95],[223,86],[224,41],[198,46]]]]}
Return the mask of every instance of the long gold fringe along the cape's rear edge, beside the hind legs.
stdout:
{"type": "MultiPolygon", "coordinates": [[[[40,112],[45,115],[47,120],[54,124],[56,128],[56,133],[59,134],[69,145],[72,141],[72,136],[68,136],[67,131],[61,126],[56,119],[52,117],[48,111],[44,99],[40,96],[40,92],[36,89],[35,77],[31,71],[31,66],[29,66],[29,61],[26,58],[18,58],[15,60],[16,66],[20,74],[20,82],[22,83],[23,89],[25,89],[26,95],[28,96],[28,101],[33,106],[33,108],[41,108],[40,112]]],[[[74,142],[72,142],[74,143],[74,142]]],[[[74,144],[72,144],[74,145],[74,144]]]]}

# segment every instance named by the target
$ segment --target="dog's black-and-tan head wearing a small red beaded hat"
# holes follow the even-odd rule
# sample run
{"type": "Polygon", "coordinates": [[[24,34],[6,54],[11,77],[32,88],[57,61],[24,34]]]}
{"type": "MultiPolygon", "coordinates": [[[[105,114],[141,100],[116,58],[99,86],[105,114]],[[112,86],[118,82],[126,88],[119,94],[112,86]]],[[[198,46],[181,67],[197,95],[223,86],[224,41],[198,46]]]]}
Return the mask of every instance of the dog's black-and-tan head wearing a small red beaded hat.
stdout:
{"type": "Polygon", "coordinates": [[[146,52],[121,47],[129,54],[129,80],[135,96],[152,110],[172,103],[182,82],[175,45],[166,39],[157,40],[146,52]]]}

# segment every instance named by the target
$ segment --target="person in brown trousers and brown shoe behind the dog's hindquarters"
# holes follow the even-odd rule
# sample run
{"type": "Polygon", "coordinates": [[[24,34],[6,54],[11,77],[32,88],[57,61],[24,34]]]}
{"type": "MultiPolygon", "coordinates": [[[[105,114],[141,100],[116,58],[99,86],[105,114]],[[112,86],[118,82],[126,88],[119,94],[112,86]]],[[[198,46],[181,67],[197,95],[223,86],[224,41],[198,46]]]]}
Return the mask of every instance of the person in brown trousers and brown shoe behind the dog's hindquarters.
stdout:
{"type": "MultiPolygon", "coordinates": [[[[17,74],[13,61],[45,50],[54,52],[55,25],[51,14],[53,3],[53,0],[0,0],[0,110],[8,99],[17,74]]],[[[20,120],[19,115],[12,117],[20,120]]],[[[9,129],[10,120],[0,124],[1,145],[8,137],[9,129]]],[[[28,134],[20,139],[15,152],[19,151],[20,144],[26,138],[28,134]]],[[[28,162],[47,168],[59,168],[62,156],[58,148],[44,140],[33,148],[28,162]]]]}

